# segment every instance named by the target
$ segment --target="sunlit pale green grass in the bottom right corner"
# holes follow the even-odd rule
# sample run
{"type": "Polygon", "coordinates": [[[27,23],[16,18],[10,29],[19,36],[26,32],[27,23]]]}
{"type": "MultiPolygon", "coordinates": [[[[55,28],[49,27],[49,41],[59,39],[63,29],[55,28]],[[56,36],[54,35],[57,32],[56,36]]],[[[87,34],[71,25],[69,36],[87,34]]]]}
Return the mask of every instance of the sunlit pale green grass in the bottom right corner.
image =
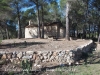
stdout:
{"type": "Polygon", "coordinates": [[[87,65],[77,65],[77,66],[66,66],[59,67],[51,72],[44,72],[50,75],[99,75],[100,65],[98,64],[87,64],[87,65]]]}

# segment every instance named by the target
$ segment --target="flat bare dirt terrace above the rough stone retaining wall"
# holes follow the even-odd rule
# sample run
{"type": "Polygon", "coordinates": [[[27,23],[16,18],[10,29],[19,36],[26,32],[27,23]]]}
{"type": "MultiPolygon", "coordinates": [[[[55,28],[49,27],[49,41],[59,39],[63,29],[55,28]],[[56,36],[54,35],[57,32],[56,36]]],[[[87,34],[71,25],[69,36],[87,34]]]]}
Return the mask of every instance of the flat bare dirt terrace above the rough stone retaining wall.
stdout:
{"type": "Polygon", "coordinates": [[[2,40],[0,51],[40,51],[40,50],[71,50],[84,45],[89,40],[70,40],[65,39],[8,39],[2,40]]]}

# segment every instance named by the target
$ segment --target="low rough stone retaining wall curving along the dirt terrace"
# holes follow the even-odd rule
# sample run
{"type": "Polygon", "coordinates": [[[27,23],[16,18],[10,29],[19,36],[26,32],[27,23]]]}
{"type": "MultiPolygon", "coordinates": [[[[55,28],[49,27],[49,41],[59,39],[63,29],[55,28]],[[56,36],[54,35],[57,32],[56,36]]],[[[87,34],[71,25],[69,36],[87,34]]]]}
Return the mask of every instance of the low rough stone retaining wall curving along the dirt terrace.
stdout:
{"type": "Polygon", "coordinates": [[[31,60],[34,64],[56,62],[60,64],[72,64],[78,61],[82,52],[88,52],[93,42],[90,40],[87,44],[81,45],[72,50],[55,50],[55,51],[23,51],[23,52],[4,52],[0,51],[0,59],[9,60],[11,63],[21,63],[22,60],[31,60]]]}

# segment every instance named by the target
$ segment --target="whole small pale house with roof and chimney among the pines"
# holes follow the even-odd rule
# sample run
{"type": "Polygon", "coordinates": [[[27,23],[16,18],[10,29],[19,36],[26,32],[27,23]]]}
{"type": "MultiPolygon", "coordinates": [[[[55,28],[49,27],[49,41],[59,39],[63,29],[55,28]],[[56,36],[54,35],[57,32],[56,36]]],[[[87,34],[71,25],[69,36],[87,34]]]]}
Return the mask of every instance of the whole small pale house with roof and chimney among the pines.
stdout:
{"type": "MultiPolygon", "coordinates": [[[[65,27],[60,22],[52,22],[44,24],[44,38],[48,37],[65,37],[65,27]]],[[[40,26],[42,35],[42,26],[40,26]]],[[[37,38],[38,37],[38,25],[30,24],[25,27],[25,38],[37,38]]]]}

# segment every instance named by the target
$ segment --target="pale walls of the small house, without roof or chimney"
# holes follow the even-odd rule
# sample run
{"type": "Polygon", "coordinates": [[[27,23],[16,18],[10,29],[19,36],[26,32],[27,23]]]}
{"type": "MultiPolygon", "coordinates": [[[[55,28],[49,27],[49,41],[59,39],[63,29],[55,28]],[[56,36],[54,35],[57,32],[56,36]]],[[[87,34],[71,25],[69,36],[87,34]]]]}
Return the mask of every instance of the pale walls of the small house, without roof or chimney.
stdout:
{"type": "MultiPolygon", "coordinates": [[[[26,27],[25,28],[25,38],[37,38],[38,37],[37,30],[38,30],[38,27],[35,27],[35,26],[26,27]]],[[[42,35],[42,28],[40,28],[40,32],[42,35]]],[[[57,25],[44,26],[44,38],[48,38],[48,36],[57,36],[57,33],[59,34],[60,38],[64,38],[65,28],[64,27],[57,28],[57,25]]]]}

